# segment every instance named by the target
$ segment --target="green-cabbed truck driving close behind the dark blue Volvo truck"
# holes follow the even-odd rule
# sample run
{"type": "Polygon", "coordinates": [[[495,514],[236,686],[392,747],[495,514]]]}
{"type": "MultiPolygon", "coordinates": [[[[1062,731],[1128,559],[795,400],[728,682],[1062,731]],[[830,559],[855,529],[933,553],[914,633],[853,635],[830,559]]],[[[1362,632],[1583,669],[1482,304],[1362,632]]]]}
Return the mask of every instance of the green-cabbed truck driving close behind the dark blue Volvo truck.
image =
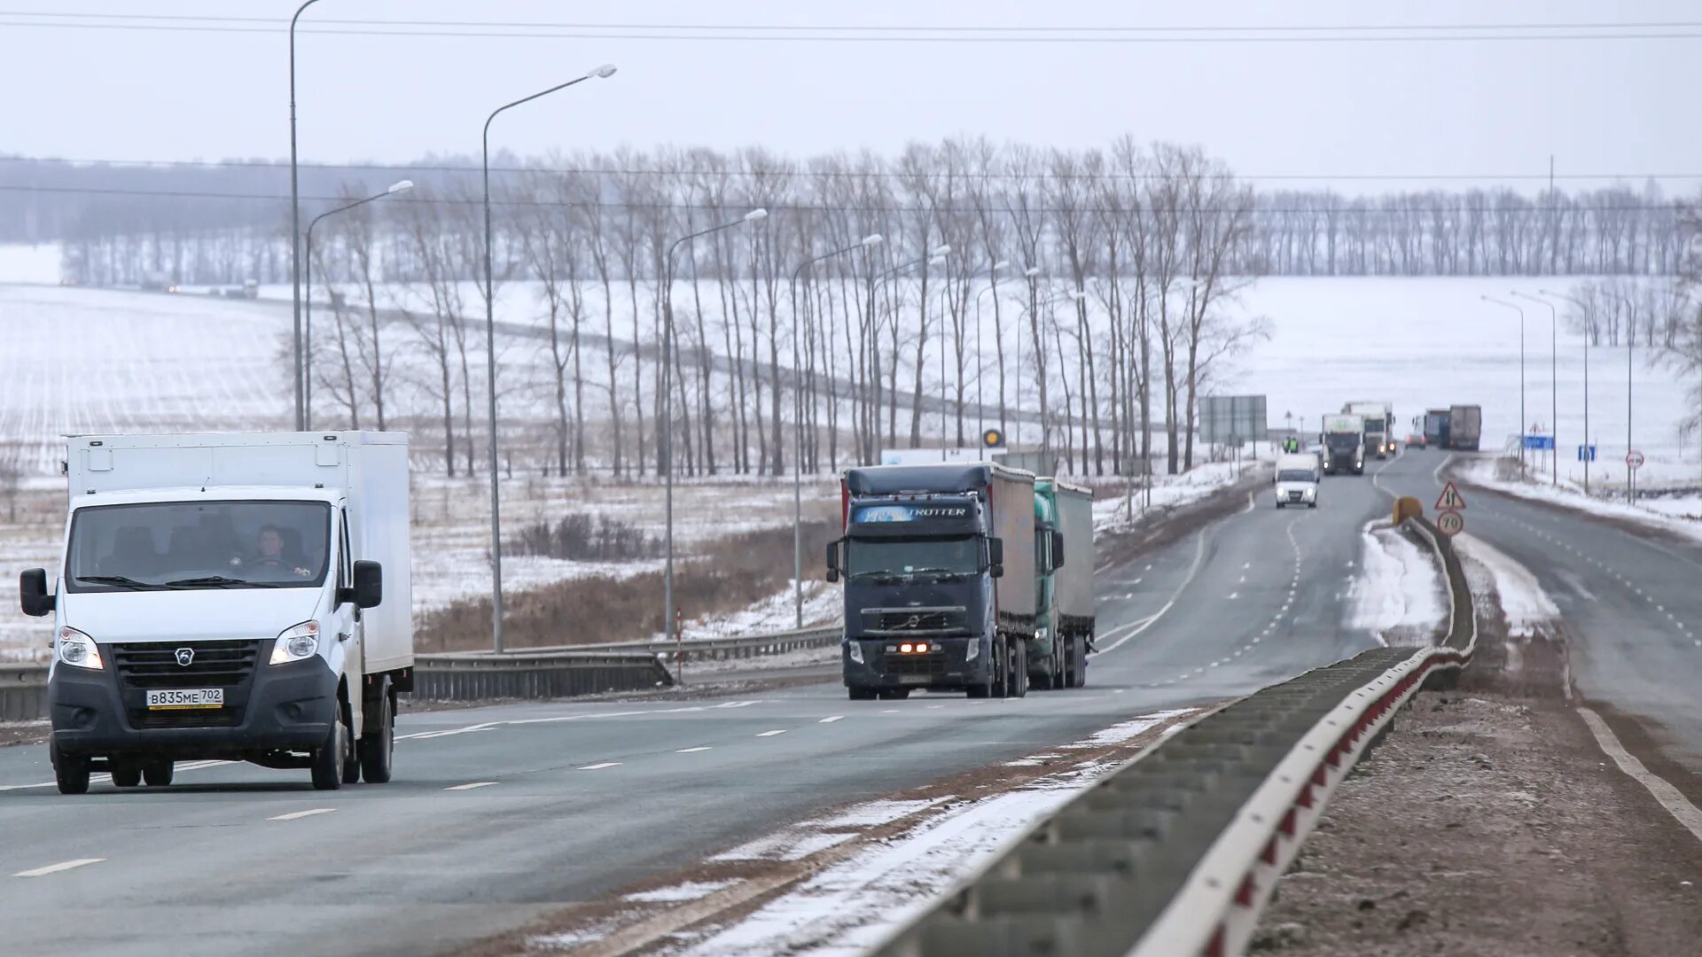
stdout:
{"type": "Polygon", "coordinates": [[[1035,543],[1045,555],[1035,557],[1040,613],[1028,649],[1030,681],[1081,688],[1088,683],[1094,630],[1093,492],[1060,478],[1037,478],[1035,543]]]}

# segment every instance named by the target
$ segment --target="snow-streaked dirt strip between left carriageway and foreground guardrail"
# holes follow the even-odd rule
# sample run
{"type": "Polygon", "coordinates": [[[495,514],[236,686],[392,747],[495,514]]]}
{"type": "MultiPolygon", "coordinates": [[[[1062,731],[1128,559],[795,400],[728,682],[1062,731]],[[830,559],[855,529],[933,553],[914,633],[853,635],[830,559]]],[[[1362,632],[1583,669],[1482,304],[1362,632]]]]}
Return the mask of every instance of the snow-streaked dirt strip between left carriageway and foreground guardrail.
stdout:
{"type": "Polygon", "coordinates": [[[863,954],[1195,713],[1132,717],[1026,758],[815,814],[478,954],[863,954]]]}

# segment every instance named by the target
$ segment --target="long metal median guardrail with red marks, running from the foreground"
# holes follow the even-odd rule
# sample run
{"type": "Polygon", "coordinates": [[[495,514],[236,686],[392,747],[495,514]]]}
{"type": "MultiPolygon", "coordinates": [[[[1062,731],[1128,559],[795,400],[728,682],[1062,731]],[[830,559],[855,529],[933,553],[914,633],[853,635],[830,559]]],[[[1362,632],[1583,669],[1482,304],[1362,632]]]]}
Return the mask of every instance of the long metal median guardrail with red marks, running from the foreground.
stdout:
{"type": "Polygon", "coordinates": [[[1037,824],[877,954],[1242,954],[1336,785],[1426,681],[1471,662],[1459,559],[1440,647],[1372,649],[1219,708],[1037,824]]]}

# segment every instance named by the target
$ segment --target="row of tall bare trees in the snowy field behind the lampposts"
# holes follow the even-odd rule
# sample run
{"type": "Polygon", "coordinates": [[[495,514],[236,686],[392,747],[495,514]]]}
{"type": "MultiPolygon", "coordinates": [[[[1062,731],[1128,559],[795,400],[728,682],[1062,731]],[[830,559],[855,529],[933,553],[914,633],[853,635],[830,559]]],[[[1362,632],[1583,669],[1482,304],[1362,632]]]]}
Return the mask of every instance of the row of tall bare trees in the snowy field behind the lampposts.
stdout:
{"type": "MultiPolygon", "coordinates": [[[[686,475],[868,463],[984,426],[1071,472],[1174,472],[1195,461],[1200,395],[1265,335],[1227,308],[1254,194],[1197,148],[645,158],[669,175],[616,160],[500,191],[502,421],[533,468],[655,473],[665,421],[686,475]]],[[[403,410],[451,475],[482,444],[473,199],[420,187],[328,220],[313,247],[334,289],[313,324],[320,415],[385,427],[403,410]]]]}

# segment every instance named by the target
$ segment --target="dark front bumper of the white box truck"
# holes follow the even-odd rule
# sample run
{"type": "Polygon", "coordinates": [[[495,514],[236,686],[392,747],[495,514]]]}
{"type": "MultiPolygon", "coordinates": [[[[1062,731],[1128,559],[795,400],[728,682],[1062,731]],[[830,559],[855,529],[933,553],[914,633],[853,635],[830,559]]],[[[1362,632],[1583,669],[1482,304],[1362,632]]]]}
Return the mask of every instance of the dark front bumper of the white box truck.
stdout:
{"type": "Polygon", "coordinates": [[[112,666],[58,666],[48,681],[48,705],[53,741],[65,754],[243,759],[323,744],[337,719],[337,674],[320,657],[276,666],[262,659],[245,686],[226,690],[226,708],[203,719],[203,712],[148,712],[146,693],[121,686],[112,666]],[[180,725],[138,727],[143,715],[162,713],[180,725]]]}

